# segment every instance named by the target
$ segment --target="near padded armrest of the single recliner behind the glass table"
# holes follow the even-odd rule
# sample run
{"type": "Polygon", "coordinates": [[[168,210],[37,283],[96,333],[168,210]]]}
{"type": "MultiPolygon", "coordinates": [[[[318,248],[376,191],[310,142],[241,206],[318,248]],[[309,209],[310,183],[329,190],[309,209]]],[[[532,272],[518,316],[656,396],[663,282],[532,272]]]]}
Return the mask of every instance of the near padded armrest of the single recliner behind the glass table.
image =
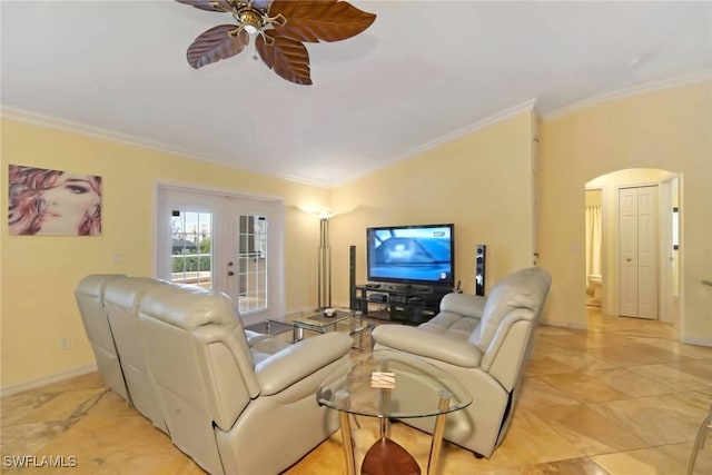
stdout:
{"type": "Polygon", "coordinates": [[[377,345],[465,368],[479,367],[482,352],[446,333],[433,333],[402,325],[379,325],[372,334],[377,345]]]}

